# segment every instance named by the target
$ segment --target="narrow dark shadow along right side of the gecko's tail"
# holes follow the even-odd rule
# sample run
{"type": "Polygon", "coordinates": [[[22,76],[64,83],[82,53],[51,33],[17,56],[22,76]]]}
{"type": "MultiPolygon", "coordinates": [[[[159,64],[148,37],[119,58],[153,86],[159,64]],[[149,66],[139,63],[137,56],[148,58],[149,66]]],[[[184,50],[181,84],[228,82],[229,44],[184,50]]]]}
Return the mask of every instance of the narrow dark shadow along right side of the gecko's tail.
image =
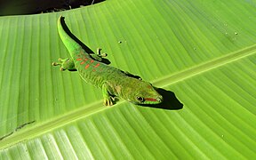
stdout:
{"type": "MultiPolygon", "coordinates": [[[[60,23],[63,27],[63,29],[66,31],[66,33],[68,34],[68,36],[70,36],[72,39],[74,39],[74,41],[76,41],[77,44],[80,44],[82,46],[82,48],[84,49],[85,52],[87,53],[95,53],[93,52],[87,45],[83,44],[83,42],[81,42],[75,35],[73,35],[71,33],[71,31],[69,30],[68,26],[66,25],[65,21],[64,21],[64,17],[60,18],[60,23]]],[[[105,63],[107,65],[109,65],[111,62],[108,59],[102,58],[102,63],[105,63]]],[[[76,70],[70,70],[70,71],[76,71],[76,70]]]]}

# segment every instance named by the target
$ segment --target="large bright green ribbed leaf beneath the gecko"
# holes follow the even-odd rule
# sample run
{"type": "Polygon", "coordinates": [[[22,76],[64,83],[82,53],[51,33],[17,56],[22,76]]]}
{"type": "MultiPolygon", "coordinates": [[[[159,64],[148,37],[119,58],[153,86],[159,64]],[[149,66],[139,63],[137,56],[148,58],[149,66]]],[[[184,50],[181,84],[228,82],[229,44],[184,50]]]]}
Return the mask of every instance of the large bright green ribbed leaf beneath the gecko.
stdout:
{"type": "Polygon", "coordinates": [[[108,0],[0,17],[0,159],[256,157],[255,6],[108,0]],[[69,57],[60,15],[111,66],[161,88],[163,108],[105,107],[100,89],[52,67],[69,57]]]}

